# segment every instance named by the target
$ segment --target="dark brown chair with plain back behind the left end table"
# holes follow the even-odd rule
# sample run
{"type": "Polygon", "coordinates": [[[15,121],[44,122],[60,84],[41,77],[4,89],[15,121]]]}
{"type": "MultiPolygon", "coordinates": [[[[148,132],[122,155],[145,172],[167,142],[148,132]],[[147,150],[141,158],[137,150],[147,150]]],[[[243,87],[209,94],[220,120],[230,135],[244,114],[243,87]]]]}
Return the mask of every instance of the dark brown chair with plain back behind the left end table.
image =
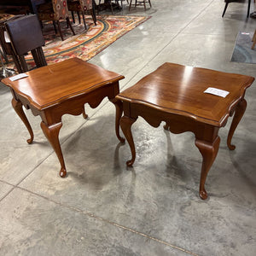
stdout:
{"type": "Polygon", "coordinates": [[[24,15],[5,22],[11,53],[19,73],[28,71],[25,55],[31,51],[36,67],[46,66],[42,46],[44,37],[37,15],[24,15]]]}

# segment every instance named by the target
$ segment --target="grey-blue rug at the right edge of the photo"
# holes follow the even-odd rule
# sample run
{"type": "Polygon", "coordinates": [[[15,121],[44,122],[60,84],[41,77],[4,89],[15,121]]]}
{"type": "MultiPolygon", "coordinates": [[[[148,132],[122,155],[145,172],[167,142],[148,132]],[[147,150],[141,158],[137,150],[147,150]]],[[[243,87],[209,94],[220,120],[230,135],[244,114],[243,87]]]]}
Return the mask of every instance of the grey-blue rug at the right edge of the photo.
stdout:
{"type": "Polygon", "coordinates": [[[253,32],[239,32],[236,38],[236,45],[231,57],[231,61],[256,63],[256,47],[252,47],[253,32]]]}

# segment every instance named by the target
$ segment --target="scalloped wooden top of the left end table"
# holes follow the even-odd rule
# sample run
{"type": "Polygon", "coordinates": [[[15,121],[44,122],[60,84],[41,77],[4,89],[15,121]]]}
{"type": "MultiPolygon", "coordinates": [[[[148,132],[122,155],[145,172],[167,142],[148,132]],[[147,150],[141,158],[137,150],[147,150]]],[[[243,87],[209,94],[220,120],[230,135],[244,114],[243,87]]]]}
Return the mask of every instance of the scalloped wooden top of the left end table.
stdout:
{"type": "Polygon", "coordinates": [[[7,78],[2,82],[39,110],[125,78],[79,58],[39,67],[26,74],[28,77],[24,79],[7,78]]]}

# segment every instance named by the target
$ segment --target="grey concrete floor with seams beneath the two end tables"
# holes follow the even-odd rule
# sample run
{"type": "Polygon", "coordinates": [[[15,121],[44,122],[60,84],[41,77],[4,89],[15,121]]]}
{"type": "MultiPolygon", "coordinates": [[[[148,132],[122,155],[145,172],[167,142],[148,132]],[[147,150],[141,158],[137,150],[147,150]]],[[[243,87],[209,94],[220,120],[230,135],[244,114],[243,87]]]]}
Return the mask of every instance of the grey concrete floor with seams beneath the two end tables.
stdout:
{"type": "MultiPolygon", "coordinates": [[[[125,2],[124,2],[125,3],[125,2]]],[[[239,31],[253,32],[247,3],[152,0],[117,15],[152,18],[90,60],[125,75],[121,90],[166,61],[255,76],[256,66],[230,62],[239,31]]],[[[253,11],[254,5],[252,7],[253,11]]],[[[114,107],[86,107],[89,119],[63,117],[61,147],[67,178],[27,111],[35,134],[0,86],[0,255],[255,255],[256,87],[230,151],[230,121],[220,130],[217,159],[207,177],[207,201],[198,196],[201,154],[191,133],[171,134],[143,119],[133,125],[137,160],[114,133],[114,107]]]]}

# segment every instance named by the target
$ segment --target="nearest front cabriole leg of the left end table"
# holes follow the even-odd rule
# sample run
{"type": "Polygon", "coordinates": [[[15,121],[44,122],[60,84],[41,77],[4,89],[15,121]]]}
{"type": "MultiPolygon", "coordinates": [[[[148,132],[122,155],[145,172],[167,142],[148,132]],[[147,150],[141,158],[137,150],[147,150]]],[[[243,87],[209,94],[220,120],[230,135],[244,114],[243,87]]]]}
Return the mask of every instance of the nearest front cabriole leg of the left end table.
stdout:
{"type": "Polygon", "coordinates": [[[61,144],[59,141],[59,132],[61,130],[62,123],[58,123],[55,125],[45,125],[44,122],[41,122],[41,128],[44,131],[45,137],[48,138],[49,143],[55,150],[55,154],[57,155],[60,164],[61,164],[61,171],[60,171],[60,176],[61,177],[66,177],[67,171],[66,171],[66,166],[65,162],[63,159],[62,151],[61,151],[61,144]]]}

